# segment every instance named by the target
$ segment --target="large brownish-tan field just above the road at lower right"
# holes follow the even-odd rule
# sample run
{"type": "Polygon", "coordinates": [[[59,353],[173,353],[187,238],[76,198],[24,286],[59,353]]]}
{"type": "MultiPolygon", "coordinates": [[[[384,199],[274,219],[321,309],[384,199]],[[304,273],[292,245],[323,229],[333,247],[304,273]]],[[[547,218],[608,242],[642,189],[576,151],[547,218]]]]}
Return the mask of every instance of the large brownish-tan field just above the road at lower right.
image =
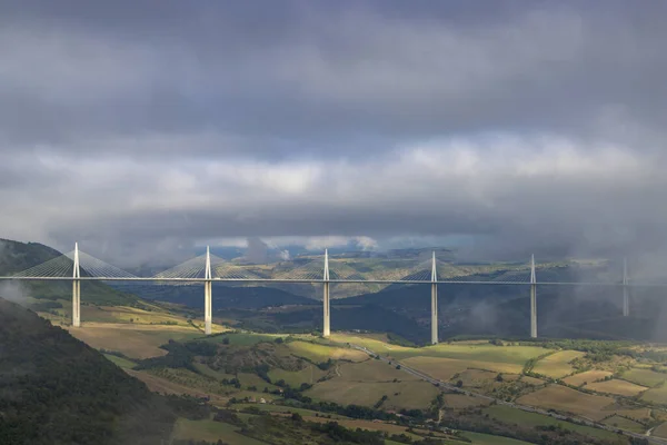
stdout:
{"type": "Polygon", "coordinates": [[[545,409],[556,409],[598,421],[607,414],[603,408],[614,403],[605,396],[594,396],[561,385],[549,385],[535,393],[527,394],[517,399],[518,404],[537,406],[545,409]]]}

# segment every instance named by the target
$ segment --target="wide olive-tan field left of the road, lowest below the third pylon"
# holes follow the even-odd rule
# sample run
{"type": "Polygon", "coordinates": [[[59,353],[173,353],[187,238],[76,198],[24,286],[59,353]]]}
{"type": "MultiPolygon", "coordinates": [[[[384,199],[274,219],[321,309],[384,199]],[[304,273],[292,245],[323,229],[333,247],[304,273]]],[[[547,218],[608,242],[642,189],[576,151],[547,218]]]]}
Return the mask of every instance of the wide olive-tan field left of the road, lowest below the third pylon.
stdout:
{"type": "Polygon", "coordinates": [[[424,409],[437,396],[438,388],[426,382],[370,383],[334,378],[318,383],[305,394],[315,399],[362,406],[374,406],[386,395],[385,409],[424,409]]]}

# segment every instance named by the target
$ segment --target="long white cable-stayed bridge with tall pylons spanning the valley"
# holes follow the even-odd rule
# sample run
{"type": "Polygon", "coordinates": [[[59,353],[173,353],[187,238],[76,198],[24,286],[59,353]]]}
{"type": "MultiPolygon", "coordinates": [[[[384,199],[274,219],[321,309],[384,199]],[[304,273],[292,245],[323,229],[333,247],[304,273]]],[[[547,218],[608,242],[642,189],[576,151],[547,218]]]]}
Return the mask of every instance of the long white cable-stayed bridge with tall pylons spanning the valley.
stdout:
{"type": "Polygon", "coordinates": [[[436,254],[422,260],[382,260],[378,267],[360,271],[348,263],[330,258],[325,250],[321,257],[298,258],[271,265],[240,264],[206,254],[191,258],[153,276],[137,276],[110,265],[92,255],[74,249],[29,269],[0,277],[0,280],[66,280],[72,283],[72,325],[80,327],[81,281],[152,281],[169,285],[197,285],[205,287],[205,332],[211,333],[212,283],[302,283],[322,285],[322,333],[330,334],[330,285],[431,285],[431,342],[438,342],[438,285],[510,285],[530,287],[530,336],[537,337],[537,286],[615,286],[623,288],[623,314],[629,315],[629,289],[633,286],[667,286],[667,283],[630,280],[624,261],[623,274],[607,274],[584,279],[563,280],[552,274],[550,264],[512,265],[456,265],[436,258],[436,254]],[[538,279],[539,278],[539,279],[538,279]]]}

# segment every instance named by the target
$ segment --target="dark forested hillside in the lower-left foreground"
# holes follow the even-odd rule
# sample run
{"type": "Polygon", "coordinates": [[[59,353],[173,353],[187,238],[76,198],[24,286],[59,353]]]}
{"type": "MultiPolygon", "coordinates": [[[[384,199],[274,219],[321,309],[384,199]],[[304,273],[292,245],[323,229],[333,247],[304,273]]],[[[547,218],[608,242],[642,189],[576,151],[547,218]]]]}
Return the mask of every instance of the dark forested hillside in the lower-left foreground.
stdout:
{"type": "Polygon", "coordinates": [[[146,385],[0,298],[0,444],[160,444],[175,417],[146,385]]]}

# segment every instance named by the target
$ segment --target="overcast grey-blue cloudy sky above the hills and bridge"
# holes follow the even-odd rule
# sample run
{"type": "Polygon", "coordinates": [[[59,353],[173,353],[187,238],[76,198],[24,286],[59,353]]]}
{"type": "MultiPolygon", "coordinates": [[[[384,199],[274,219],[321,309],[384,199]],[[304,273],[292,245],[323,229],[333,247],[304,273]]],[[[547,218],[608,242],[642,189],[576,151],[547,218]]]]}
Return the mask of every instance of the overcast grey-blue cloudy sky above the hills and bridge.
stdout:
{"type": "Polygon", "coordinates": [[[666,20],[650,0],[0,0],[0,237],[659,250],[666,20]]]}

